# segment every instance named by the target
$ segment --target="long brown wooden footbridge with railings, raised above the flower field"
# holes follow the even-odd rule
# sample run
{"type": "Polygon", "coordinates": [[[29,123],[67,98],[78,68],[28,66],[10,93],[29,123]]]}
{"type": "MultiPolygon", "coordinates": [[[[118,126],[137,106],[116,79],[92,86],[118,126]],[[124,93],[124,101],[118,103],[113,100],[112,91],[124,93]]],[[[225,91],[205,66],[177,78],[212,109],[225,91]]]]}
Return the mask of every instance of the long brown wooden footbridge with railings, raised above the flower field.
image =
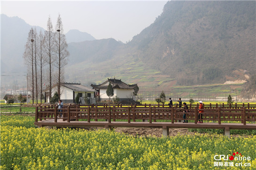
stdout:
{"type": "Polygon", "coordinates": [[[189,112],[178,105],[68,105],[58,109],[57,105],[36,107],[35,125],[39,127],[148,127],[163,128],[163,135],[169,135],[169,128],[211,128],[256,129],[256,105],[221,104],[204,105],[202,120],[197,123],[198,105],[188,105],[189,112]],[[61,117],[62,113],[62,117],[61,117]],[[189,123],[181,123],[183,114],[189,123]],[[207,123],[206,123],[207,121],[207,123]],[[232,123],[230,123],[232,121],[232,123]]]}

